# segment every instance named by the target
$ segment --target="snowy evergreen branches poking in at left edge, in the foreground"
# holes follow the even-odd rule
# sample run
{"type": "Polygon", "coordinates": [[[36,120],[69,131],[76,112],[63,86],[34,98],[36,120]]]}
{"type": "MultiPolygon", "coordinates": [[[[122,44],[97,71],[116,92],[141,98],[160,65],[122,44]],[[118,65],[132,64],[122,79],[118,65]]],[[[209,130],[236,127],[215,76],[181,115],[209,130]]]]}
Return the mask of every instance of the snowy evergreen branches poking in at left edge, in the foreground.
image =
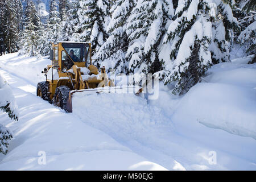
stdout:
{"type": "MultiPolygon", "coordinates": [[[[0,75],[0,111],[9,115],[14,121],[18,121],[18,107],[10,86],[0,75]]],[[[0,124],[0,153],[6,154],[9,142],[13,138],[10,130],[0,124]]]]}

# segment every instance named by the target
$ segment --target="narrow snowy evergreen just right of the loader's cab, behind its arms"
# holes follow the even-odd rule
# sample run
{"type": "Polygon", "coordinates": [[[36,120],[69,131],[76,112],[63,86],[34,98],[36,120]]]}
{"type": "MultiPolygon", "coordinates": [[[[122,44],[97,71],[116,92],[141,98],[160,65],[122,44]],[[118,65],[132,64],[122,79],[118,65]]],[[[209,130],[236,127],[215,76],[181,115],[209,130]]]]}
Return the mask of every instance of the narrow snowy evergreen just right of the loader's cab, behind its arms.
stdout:
{"type": "Polygon", "coordinates": [[[117,0],[110,9],[112,18],[107,27],[110,36],[94,56],[108,72],[110,69],[115,69],[115,73],[128,71],[125,56],[129,46],[126,24],[134,5],[134,0],[117,0]]]}

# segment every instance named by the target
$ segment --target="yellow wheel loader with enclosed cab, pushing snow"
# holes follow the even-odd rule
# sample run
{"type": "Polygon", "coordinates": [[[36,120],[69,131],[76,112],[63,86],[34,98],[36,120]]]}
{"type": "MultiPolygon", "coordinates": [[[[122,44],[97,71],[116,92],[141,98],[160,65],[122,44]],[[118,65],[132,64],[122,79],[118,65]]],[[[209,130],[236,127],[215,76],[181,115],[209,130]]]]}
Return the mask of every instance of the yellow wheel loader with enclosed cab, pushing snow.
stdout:
{"type": "MultiPolygon", "coordinates": [[[[69,113],[72,112],[72,94],[76,92],[98,94],[127,89],[115,88],[105,68],[100,68],[99,72],[92,65],[90,43],[55,42],[52,44],[50,57],[52,64],[42,71],[46,81],[38,83],[36,95],[69,113]]],[[[140,90],[137,90],[139,93],[140,90]]]]}

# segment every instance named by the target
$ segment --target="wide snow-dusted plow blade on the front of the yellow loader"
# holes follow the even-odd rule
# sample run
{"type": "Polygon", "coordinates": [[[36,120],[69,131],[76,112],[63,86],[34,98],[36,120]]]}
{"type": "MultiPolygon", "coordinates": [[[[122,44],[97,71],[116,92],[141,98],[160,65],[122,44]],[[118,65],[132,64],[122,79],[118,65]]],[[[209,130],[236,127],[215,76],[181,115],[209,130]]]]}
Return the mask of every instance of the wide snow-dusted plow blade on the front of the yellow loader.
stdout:
{"type": "Polygon", "coordinates": [[[68,113],[72,113],[73,107],[72,107],[72,97],[76,93],[83,93],[82,96],[86,95],[93,95],[97,96],[97,94],[135,94],[139,95],[142,93],[142,88],[140,86],[125,86],[125,87],[119,87],[119,86],[114,86],[114,87],[101,87],[101,88],[95,88],[95,89],[85,89],[85,90],[71,90],[69,92],[69,97],[67,100],[67,106],[66,106],[66,111],[68,113]]]}

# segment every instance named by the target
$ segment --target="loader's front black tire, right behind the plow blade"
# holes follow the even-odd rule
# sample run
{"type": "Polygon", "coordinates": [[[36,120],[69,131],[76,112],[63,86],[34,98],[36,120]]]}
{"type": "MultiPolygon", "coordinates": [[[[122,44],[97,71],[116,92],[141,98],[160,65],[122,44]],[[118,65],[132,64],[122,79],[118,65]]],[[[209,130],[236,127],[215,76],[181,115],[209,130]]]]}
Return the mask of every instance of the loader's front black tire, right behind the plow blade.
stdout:
{"type": "Polygon", "coordinates": [[[70,88],[68,86],[59,86],[55,90],[53,97],[53,104],[64,109],[67,112],[67,101],[69,97],[70,88]]]}

